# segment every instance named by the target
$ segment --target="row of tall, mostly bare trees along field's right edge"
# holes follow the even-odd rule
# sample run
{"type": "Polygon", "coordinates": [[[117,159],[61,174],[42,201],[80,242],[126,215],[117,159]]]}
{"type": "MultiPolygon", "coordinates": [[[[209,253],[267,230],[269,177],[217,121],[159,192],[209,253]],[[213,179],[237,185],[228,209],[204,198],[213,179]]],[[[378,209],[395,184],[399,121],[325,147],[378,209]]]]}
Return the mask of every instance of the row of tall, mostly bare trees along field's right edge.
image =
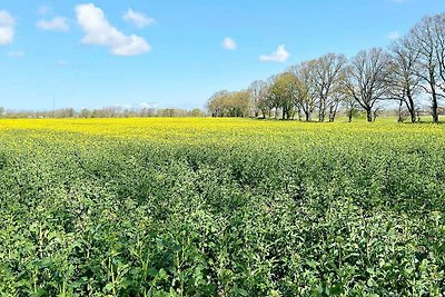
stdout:
{"type": "Polygon", "coordinates": [[[207,109],[212,117],[334,121],[342,108],[349,121],[359,110],[374,121],[393,101],[399,121],[406,111],[415,122],[426,98],[438,122],[445,98],[445,13],[424,18],[386,50],[362,50],[352,59],[327,53],[256,80],[246,90],[218,91],[207,109]]]}

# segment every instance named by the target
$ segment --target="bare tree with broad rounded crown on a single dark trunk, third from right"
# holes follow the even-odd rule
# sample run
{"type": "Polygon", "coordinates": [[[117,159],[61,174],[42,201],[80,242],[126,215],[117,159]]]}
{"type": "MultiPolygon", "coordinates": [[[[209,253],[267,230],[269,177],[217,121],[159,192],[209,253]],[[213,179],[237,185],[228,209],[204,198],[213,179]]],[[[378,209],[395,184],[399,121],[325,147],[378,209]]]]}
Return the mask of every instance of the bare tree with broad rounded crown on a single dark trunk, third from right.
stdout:
{"type": "Polygon", "coordinates": [[[376,102],[385,99],[389,89],[390,56],[379,48],[358,52],[347,70],[345,88],[373,121],[376,102]]]}

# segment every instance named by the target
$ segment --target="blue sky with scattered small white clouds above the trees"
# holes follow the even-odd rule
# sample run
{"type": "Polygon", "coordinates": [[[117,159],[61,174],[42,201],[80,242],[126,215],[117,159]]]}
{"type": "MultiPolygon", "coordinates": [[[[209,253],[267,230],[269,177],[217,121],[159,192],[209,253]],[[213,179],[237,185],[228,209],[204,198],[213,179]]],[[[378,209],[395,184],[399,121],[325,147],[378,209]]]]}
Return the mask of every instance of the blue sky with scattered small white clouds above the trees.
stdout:
{"type": "Polygon", "coordinates": [[[0,107],[204,108],[336,52],[387,48],[444,0],[0,0],[0,107]]]}

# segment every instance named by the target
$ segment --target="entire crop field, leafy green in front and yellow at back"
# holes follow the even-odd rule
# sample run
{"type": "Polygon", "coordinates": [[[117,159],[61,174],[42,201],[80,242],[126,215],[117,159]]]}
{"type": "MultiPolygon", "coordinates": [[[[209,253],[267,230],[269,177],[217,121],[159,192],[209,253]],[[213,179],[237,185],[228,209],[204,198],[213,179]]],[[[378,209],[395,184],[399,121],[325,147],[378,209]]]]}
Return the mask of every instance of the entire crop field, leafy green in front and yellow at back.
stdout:
{"type": "Polygon", "coordinates": [[[0,120],[0,296],[444,296],[444,125],[0,120]]]}

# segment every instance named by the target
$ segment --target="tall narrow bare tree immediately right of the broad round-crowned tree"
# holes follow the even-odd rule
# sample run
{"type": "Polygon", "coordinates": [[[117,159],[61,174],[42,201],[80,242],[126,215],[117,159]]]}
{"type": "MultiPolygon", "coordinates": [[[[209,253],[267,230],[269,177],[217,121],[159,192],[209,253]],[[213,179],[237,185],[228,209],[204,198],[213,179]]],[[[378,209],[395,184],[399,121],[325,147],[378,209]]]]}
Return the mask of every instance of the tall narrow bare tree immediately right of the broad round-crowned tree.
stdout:
{"type": "Polygon", "coordinates": [[[399,121],[402,106],[405,105],[411,121],[415,122],[415,97],[421,92],[421,78],[416,75],[419,71],[419,52],[408,37],[396,40],[390,50],[393,53],[390,97],[399,101],[399,121]]]}

